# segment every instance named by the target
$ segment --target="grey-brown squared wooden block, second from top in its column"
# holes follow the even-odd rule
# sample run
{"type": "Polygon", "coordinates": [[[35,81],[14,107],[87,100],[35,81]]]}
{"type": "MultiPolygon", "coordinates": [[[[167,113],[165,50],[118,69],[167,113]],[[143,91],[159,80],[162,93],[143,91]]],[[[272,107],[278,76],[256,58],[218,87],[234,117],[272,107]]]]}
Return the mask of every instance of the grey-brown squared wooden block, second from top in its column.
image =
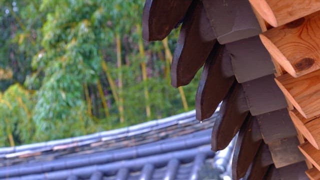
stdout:
{"type": "Polygon", "coordinates": [[[258,36],[230,42],[225,46],[230,53],[233,72],[239,83],[275,72],[271,57],[258,36]]]}

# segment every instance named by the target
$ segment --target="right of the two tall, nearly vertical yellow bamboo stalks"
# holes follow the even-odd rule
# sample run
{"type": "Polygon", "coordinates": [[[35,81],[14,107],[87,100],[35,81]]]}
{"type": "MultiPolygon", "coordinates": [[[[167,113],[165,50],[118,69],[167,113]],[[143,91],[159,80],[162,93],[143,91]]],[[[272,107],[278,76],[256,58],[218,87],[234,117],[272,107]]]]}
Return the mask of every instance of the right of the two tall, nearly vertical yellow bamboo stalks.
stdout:
{"type": "MultiPolygon", "coordinates": [[[[137,32],[140,34],[140,38],[138,41],[139,44],[139,52],[140,52],[140,56],[143,58],[145,57],[145,53],[144,53],[144,47],[143,47],[143,42],[142,42],[142,37],[141,37],[141,27],[140,24],[136,25],[136,30],[137,32]]],[[[144,82],[143,84],[143,88],[144,88],[144,98],[145,98],[145,112],[146,112],[146,117],[150,117],[151,116],[151,109],[150,109],[150,102],[149,102],[149,92],[148,92],[148,88],[147,88],[147,84],[145,83],[147,80],[147,74],[146,74],[146,65],[144,61],[141,61],[141,71],[142,71],[142,80],[144,82]]]]}

